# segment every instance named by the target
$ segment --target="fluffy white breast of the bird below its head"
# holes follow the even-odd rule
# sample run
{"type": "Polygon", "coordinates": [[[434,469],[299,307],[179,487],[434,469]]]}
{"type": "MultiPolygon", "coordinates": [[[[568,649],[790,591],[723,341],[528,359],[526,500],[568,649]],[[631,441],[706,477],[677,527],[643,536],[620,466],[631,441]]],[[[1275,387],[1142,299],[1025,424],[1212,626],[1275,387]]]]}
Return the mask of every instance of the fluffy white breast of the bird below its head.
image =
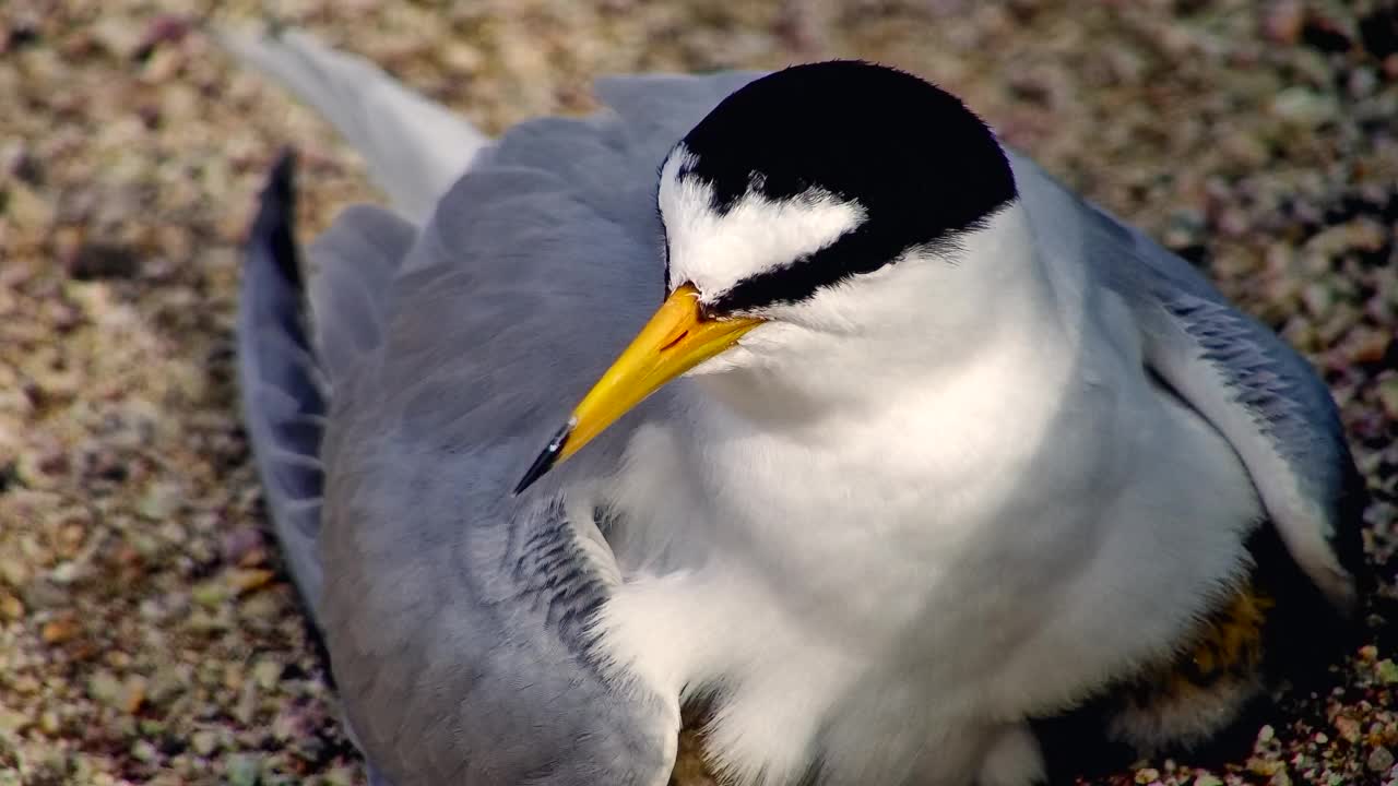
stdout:
{"type": "Polygon", "coordinates": [[[1007,331],[818,428],[749,422],[691,380],[608,492],[689,545],[663,569],[622,558],[617,660],[720,691],[710,740],[740,783],[798,773],[816,744],[861,778],[937,782],[1005,723],[1169,652],[1236,579],[1260,506],[1121,329],[1007,331]]]}

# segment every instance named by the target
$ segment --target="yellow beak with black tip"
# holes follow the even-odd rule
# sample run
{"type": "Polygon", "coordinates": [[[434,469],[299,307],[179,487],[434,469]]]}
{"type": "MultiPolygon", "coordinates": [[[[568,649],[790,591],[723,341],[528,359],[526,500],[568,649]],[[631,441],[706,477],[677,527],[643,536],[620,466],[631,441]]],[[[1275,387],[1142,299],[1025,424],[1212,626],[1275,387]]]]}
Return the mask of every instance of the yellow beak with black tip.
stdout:
{"type": "Polygon", "coordinates": [[[699,292],[689,284],[677,288],[577,404],[568,425],[538,455],[514,494],[582,450],[664,383],[733,347],[761,323],[749,317],[705,319],[699,312],[699,292]]]}

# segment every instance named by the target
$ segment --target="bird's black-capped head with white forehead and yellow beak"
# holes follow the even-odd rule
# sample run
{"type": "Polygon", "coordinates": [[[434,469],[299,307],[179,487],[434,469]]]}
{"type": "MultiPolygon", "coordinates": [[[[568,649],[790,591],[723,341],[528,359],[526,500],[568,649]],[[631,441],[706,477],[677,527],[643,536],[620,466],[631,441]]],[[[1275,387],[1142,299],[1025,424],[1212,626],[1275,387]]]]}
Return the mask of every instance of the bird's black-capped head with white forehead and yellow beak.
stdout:
{"type": "Polygon", "coordinates": [[[800,364],[835,334],[981,308],[994,277],[956,270],[994,256],[1001,239],[967,241],[1016,201],[994,133],[913,74],[836,60],[740,88],[661,165],[664,303],[516,492],[686,372],[800,364]]]}

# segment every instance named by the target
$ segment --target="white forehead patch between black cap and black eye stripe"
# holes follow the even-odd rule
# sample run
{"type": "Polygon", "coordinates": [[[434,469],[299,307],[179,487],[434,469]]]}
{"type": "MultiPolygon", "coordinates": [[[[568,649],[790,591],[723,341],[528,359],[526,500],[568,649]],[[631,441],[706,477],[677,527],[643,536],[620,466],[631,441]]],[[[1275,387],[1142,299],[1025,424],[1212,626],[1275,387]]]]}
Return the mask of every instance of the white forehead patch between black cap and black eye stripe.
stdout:
{"type": "Polygon", "coordinates": [[[713,210],[713,187],[681,178],[684,145],[660,171],[660,217],[670,239],[670,284],[693,284],[705,301],[734,284],[815,253],[864,222],[864,207],[822,189],[773,201],[749,189],[728,213],[713,210]]]}

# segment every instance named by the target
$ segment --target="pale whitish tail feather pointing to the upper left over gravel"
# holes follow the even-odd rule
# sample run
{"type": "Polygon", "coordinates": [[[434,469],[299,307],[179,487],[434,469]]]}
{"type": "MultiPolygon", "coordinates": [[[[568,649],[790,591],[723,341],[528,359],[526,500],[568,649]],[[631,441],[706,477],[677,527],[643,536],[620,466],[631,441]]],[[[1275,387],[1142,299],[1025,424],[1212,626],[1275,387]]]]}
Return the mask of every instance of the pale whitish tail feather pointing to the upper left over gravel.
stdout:
{"type": "Polygon", "coordinates": [[[281,83],[363,155],[396,210],[422,224],[489,137],[372,62],[312,35],[215,29],[219,45],[281,83]]]}

